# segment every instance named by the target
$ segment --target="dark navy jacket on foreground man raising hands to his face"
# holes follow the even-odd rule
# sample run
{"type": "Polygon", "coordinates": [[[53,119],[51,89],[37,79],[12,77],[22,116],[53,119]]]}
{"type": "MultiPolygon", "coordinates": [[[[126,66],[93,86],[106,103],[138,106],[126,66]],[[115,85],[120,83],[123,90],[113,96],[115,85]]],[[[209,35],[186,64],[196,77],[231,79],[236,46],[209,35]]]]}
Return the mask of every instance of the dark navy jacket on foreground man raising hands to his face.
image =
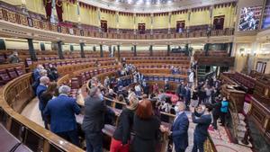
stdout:
{"type": "Polygon", "coordinates": [[[207,138],[208,127],[211,124],[211,114],[202,115],[200,118],[195,118],[194,113],[192,114],[194,123],[197,123],[194,134],[202,138],[207,138]]]}

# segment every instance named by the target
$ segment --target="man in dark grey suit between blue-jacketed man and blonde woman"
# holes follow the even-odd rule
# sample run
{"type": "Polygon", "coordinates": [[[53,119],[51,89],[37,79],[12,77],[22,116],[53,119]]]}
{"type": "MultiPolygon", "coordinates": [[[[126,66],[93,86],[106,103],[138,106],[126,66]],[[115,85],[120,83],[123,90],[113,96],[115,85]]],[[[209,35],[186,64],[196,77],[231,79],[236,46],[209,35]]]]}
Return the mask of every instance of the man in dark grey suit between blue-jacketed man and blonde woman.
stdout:
{"type": "Polygon", "coordinates": [[[85,131],[87,152],[103,151],[104,114],[107,107],[103,102],[103,94],[98,87],[92,87],[85,98],[85,117],[82,129],[85,131]]]}

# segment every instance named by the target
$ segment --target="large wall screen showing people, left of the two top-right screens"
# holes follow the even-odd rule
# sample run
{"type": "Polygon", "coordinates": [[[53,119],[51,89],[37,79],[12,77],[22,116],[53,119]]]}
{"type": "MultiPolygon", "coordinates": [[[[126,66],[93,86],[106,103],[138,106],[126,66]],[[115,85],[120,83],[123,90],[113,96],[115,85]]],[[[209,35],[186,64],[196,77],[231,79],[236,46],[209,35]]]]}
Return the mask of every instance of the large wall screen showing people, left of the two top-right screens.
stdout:
{"type": "Polygon", "coordinates": [[[258,29],[262,6],[244,7],[241,9],[238,31],[253,31],[258,29]]]}

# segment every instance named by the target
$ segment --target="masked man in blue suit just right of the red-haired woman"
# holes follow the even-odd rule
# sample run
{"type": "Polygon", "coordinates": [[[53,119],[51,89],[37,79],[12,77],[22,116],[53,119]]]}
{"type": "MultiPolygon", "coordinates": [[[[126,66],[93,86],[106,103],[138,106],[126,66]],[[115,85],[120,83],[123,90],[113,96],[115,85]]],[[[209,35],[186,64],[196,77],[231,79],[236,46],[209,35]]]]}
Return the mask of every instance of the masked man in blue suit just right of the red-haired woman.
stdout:
{"type": "Polygon", "coordinates": [[[171,136],[175,145],[175,152],[184,152],[185,148],[188,147],[188,126],[189,121],[184,112],[185,104],[176,103],[175,112],[176,117],[171,129],[171,136]]]}

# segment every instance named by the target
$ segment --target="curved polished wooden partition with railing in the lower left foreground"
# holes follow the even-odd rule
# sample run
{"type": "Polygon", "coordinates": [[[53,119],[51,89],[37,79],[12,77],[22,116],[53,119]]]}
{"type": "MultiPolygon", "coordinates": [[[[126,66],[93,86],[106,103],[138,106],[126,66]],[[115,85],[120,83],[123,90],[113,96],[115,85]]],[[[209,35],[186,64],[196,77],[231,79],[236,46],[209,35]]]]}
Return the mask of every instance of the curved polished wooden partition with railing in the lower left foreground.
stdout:
{"type": "Polygon", "coordinates": [[[81,148],[59,138],[49,130],[20,114],[34,97],[31,73],[15,78],[0,90],[1,122],[25,146],[36,152],[83,152],[81,148]]]}

